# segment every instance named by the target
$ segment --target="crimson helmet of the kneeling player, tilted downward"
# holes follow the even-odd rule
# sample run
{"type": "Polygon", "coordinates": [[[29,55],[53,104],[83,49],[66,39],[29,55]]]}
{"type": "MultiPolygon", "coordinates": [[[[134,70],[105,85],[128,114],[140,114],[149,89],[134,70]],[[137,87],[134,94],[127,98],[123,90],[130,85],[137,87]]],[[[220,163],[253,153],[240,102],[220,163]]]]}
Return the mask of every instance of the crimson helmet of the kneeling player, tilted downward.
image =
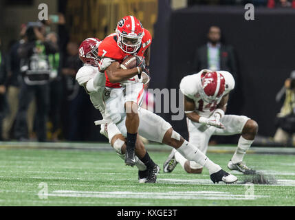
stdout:
{"type": "Polygon", "coordinates": [[[206,102],[214,102],[219,100],[226,88],[226,80],[222,74],[218,72],[206,72],[201,75],[201,97],[206,102]]]}

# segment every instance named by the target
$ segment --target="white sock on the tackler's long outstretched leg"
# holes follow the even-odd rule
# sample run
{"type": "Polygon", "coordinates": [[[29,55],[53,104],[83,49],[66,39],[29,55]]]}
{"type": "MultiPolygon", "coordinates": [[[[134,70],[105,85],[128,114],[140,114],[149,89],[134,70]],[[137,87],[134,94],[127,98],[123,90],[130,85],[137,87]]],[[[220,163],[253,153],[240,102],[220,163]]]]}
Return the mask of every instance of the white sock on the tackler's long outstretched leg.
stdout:
{"type": "Polygon", "coordinates": [[[177,151],[181,153],[184,157],[186,157],[186,159],[193,160],[197,164],[208,168],[210,175],[221,170],[221,167],[219,165],[213,163],[196,146],[193,146],[193,144],[190,144],[186,140],[184,140],[182,146],[177,148],[177,151]]]}

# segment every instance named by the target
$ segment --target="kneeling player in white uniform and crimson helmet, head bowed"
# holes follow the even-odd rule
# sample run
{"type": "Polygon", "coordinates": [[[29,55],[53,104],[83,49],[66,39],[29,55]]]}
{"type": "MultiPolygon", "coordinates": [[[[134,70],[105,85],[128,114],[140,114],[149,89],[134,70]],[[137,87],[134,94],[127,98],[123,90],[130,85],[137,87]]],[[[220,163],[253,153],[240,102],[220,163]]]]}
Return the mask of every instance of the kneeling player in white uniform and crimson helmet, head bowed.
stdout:
{"type": "MultiPolygon", "coordinates": [[[[243,157],[258,131],[258,124],[246,116],[225,115],[234,78],[226,71],[201,72],[182,78],[179,85],[184,94],[184,112],[188,124],[189,141],[206,153],[212,135],[241,134],[237,149],[228,162],[230,170],[254,174],[245,166],[243,157]]],[[[164,173],[170,173],[179,163],[187,173],[201,173],[203,166],[186,159],[173,149],[164,162],[164,173]]]]}

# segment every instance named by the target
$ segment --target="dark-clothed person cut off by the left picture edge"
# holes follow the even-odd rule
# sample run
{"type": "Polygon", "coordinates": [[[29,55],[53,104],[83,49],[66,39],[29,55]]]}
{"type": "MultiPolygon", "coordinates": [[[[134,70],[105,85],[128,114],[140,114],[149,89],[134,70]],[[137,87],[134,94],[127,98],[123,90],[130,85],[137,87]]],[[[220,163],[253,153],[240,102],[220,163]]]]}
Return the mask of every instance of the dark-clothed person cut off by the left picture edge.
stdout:
{"type": "Polygon", "coordinates": [[[7,111],[7,100],[6,100],[6,79],[7,79],[7,68],[6,68],[6,56],[1,50],[1,39],[0,39],[0,141],[2,137],[2,122],[7,111]]]}

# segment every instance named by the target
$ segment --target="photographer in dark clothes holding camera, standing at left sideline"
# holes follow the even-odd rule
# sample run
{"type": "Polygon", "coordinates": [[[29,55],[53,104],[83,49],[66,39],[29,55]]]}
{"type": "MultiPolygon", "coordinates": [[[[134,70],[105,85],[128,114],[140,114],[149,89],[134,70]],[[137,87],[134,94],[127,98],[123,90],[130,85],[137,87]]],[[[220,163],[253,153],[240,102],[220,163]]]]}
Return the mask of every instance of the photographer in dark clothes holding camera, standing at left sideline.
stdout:
{"type": "Polygon", "coordinates": [[[28,139],[26,116],[33,98],[36,100],[36,135],[39,142],[46,141],[46,122],[49,107],[49,80],[52,67],[48,56],[58,51],[58,46],[45,39],[41,22],[29,22],[25,32],[26,41],[19,46],[21,58],[21,90],[14,135],[18,140],[28,139]]]}

